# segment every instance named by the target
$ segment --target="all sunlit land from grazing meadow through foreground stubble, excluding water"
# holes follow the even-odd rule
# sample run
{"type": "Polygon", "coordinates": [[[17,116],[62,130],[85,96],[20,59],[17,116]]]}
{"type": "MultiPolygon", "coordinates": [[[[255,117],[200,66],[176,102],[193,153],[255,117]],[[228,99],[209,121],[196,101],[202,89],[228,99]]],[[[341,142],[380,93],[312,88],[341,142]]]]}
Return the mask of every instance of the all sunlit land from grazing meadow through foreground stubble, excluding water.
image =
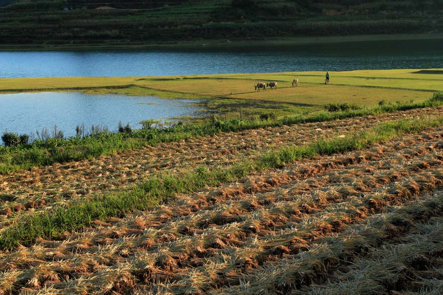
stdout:
{"type": "Polygon", "coordinates": [[[0,80],[232,116],[1,147],[0,294],[441,294],[442,71],[418,71],[0,80]]]}

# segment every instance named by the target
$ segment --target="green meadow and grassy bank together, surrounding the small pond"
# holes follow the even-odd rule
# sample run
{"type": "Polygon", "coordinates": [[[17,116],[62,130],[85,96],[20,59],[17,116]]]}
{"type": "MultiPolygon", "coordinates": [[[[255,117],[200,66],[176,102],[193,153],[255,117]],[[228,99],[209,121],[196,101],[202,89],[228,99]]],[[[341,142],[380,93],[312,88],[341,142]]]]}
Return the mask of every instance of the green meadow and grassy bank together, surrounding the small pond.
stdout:
{"type": "Polygon", "coordinates": [[[0,168],[2,173],[7,173],[218,132],[431,106],[441,103],[438,99],[432,102],[428,100],[434,92],[443,90],[441,72],[438,69],[331,72],[332,83],[329,85],[322,83],[324,73],[319,72],[0,79],[1,92],[82,90],[96,94],[200,98],[205,99],[203,106],[215,112],[219,118],[233,119],[217,119],[216,122],[186,124],[163,130],[141,130],[131,134],[111,133],[84,139],[51,140],[49,143],[40,142],[28,147],[2,148],[0,168]],[[298,87],[291,87],[290,82],[294,77],[299,79],[298,87]],[[253,90],[253,84],[257,81],[271,80],[279,82],[277,90],[253,90]],[[384,105],[380,106],[380,101],[384,101],[384,105]],[[325,104],[343,102],[356,103],[365,108],[339,113],[322,111],[325,104]],[[239,110],[243,120],[239,120],[239,110]],[[279,119],[257,119],[257,115],[263,113],[276,114],[279,119]],[[282,118],[283,116],[286,117],[282,118]]]}

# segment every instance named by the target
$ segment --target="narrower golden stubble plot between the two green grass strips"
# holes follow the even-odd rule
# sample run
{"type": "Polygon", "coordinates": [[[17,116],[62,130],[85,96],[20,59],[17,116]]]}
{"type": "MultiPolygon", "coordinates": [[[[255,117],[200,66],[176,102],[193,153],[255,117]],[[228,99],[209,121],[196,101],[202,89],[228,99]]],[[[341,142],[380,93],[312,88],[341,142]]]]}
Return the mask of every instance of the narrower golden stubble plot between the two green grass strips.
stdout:
{"type": "Polygon", "coordinates": [[[94,193],[125,189],[158,172],[180,173],[200,166],[215,169],[252,160],[257,152],[303,146],[318,138],[365,130],[380,121],[438,115],[442,110],[443,107],[415,109],[366,118],[230,132],[0,175],[1,230],[6,228],[9,217],[16,217],[18,212],[35,212],[94,193]]]}

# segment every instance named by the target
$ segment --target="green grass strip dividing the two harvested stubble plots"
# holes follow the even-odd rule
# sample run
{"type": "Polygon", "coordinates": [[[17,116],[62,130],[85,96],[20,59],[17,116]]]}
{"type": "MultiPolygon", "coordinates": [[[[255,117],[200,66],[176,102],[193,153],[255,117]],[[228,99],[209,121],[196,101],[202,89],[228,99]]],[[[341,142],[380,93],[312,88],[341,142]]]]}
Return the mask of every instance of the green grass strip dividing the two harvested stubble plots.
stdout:
{"type": "Polygon", "coordinates": [[[0,236],[0,249],[13,249],[19,244],[32,244],[38,237],[58,239],[66,231],[90,226],[95,220],[123,217],[135,210],[156,206],[179,193],[190,193],[207,186],[217,186],[252,172],[281,168],[285,164],[319,155],[331,155],[366,148],[404,134],[417,133],[443,125],[443,116],[381,123],[366,132],[346,138],[318,140],[304,147],[289,147],[259,155],[257,160],[227,169],[208,170],[199,167],[181,176],[159,175],[137,185],[131,191],[95,196],[65,207],[55,207],[43,214],[28,215],[16,220],[0,236]]]}

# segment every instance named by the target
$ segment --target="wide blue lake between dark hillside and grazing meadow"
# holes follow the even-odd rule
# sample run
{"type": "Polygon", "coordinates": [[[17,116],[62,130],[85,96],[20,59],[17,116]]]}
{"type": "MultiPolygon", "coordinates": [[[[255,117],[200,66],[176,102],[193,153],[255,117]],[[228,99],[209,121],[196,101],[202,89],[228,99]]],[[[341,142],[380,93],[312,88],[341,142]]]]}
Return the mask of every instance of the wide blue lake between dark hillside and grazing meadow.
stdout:
{"type": "Polygon", "coordinates": [[[0,52],[0,78],[442,68],[443,39],[163,51],[0,52]]]}

